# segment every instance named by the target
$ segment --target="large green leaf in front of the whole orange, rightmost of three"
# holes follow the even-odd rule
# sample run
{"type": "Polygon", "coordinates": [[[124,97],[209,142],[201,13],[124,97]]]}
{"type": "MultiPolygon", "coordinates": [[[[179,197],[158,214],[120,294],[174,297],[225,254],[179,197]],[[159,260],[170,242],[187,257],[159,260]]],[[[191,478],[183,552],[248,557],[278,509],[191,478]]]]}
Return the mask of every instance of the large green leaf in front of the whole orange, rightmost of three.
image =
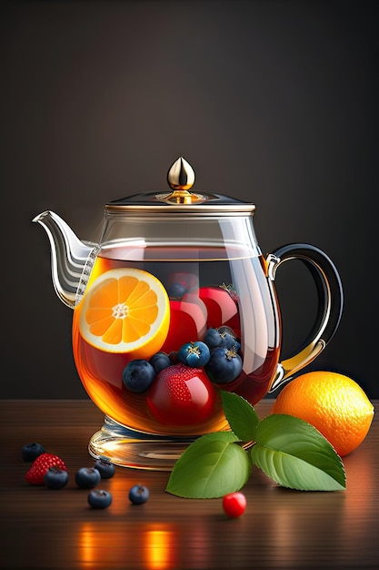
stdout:
{"type": "Polygon", "coordinates": [[[346,487],[344,464],[314,426],[285,414],[259,423],[252,462],[276,483],[299,491],[340,491],[346,487]]]}

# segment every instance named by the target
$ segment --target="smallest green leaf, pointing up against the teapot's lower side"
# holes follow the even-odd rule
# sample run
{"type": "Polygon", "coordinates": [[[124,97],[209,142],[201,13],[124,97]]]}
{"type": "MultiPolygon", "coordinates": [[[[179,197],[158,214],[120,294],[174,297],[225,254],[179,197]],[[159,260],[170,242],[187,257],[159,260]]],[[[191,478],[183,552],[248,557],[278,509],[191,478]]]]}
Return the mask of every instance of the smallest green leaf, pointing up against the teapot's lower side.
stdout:
{"type": "Polygon", "coordinates": [[[232,432],[243,442],[254,441],[259,417],[253,406],[233,392],[222,390],[221,398],[224,414],[232,432]]]}

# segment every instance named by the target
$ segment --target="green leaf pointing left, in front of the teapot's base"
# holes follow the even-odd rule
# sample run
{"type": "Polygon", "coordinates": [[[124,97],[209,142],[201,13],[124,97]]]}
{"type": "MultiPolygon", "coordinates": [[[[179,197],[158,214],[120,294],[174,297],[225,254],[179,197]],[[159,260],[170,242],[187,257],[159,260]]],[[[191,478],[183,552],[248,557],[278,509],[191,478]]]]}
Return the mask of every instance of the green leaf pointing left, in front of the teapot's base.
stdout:
{"type": "Polygon", "coordinates": [[[187,499],[212,499],[238,491],[252,467],[238,442],[231,432],[201,435],[176,461],[165,490],[187,499]]]}

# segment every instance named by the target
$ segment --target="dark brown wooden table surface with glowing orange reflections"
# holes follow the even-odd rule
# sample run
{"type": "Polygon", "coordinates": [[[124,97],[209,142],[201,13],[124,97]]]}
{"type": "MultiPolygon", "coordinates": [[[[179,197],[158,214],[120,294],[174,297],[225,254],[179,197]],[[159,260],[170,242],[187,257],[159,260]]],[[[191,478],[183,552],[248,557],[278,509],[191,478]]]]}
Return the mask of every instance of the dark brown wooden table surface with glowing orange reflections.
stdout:
{"type": "MultiPolygon", "coordinates": [[[[271,404],[255,406],[261,418],[271,404]]],[[[103,423],[89,400],[0,401],[0,422],[1,568],[379,568],[377,417],[364,443],[344,457],[345,491],[284,489],[255,468],[238,519],[225,517],[221,499],[165,493],[168,473],[123,467],[101,483],[113,504],[91,509],[88,491],[75,485],[76,470],[94,464],[87,443],[103,423]],[[64,489],[25,482],[21,449],[29,442],[65,460],[64,489]],[[143,505],[128,500],[135,483],[150,489],[143,505]]]]}

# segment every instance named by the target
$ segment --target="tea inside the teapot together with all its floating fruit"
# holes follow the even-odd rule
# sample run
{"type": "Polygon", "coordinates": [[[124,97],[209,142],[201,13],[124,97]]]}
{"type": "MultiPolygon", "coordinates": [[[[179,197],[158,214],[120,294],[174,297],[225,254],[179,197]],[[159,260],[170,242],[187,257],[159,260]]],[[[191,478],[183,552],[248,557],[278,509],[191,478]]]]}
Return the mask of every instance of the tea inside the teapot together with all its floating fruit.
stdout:
{"type": "Polygon", "coordinates": [[[280,318],[264,263],[237,248],[103,249],[73,321],[92,401],[143,433],[226,429],[220,389],[254,404],[277,368],[280,318]]]}

